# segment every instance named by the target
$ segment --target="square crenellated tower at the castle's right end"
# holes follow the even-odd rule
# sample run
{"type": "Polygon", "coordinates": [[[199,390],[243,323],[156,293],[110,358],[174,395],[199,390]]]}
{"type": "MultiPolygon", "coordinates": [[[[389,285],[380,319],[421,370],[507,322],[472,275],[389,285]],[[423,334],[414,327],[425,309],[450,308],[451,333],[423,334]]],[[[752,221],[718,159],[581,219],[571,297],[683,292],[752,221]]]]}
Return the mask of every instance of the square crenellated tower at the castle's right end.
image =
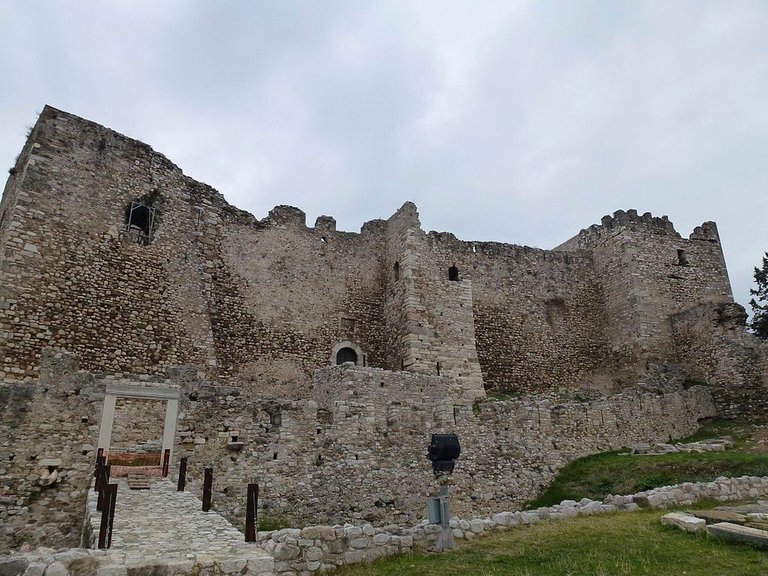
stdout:
{"type": "Polygon", "coordinates": [[[670,315],[698,303],[733,301],[713,222],[684,239],[666,216],[619,210],[556,248],[574,249],[593,254],[612,319],[607,333],[629,364],[668,357],[670,315]]]}

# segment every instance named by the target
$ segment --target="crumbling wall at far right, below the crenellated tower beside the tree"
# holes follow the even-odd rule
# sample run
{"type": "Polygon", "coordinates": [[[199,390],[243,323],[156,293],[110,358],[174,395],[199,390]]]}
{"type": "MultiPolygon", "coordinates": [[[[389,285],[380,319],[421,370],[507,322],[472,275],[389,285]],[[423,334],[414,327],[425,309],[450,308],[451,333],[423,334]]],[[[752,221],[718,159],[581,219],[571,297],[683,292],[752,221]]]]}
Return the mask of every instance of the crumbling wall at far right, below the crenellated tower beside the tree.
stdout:
{"type": "Polygon", "coordinates": [[[701,304],[672,316],[675,356],[691,381],[712,386],[725,418],[768,414],[768,343],[745,329],[739,304],[701,304]]]}

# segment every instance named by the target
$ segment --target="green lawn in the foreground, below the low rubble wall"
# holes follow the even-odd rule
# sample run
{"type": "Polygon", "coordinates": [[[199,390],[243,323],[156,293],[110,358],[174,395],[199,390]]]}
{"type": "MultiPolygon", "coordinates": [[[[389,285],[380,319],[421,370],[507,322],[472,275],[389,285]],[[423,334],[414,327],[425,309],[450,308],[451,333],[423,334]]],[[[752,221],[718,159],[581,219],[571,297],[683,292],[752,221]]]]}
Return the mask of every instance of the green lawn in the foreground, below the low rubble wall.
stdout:
{"type": "Polygon", "coordinates": [[[347,566],[339,576],[757,576],[768,554],[661,526],[664,512],[605,514],[495,532],[442,554],[347,566]]]}

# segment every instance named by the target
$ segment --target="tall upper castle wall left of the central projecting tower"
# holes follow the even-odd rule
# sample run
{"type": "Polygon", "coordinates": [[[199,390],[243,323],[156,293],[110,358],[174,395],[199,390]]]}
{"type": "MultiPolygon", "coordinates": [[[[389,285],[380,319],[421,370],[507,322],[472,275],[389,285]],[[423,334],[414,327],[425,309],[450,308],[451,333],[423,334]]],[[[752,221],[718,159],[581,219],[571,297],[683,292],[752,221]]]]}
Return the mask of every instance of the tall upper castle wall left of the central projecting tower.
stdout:
{"type": "Polygon", "coordinates": [[[384,364],[384,223],[308,228],[291,207],[257,221],[148,146],[52,108],[28,147],[3,200],[6,381],[31,382],[45,346],[93,371],[191,364],[299,397],[339,341],[384,364]],[[148,245],[125,233],[137,199],[156,209],[148,245]]]}

